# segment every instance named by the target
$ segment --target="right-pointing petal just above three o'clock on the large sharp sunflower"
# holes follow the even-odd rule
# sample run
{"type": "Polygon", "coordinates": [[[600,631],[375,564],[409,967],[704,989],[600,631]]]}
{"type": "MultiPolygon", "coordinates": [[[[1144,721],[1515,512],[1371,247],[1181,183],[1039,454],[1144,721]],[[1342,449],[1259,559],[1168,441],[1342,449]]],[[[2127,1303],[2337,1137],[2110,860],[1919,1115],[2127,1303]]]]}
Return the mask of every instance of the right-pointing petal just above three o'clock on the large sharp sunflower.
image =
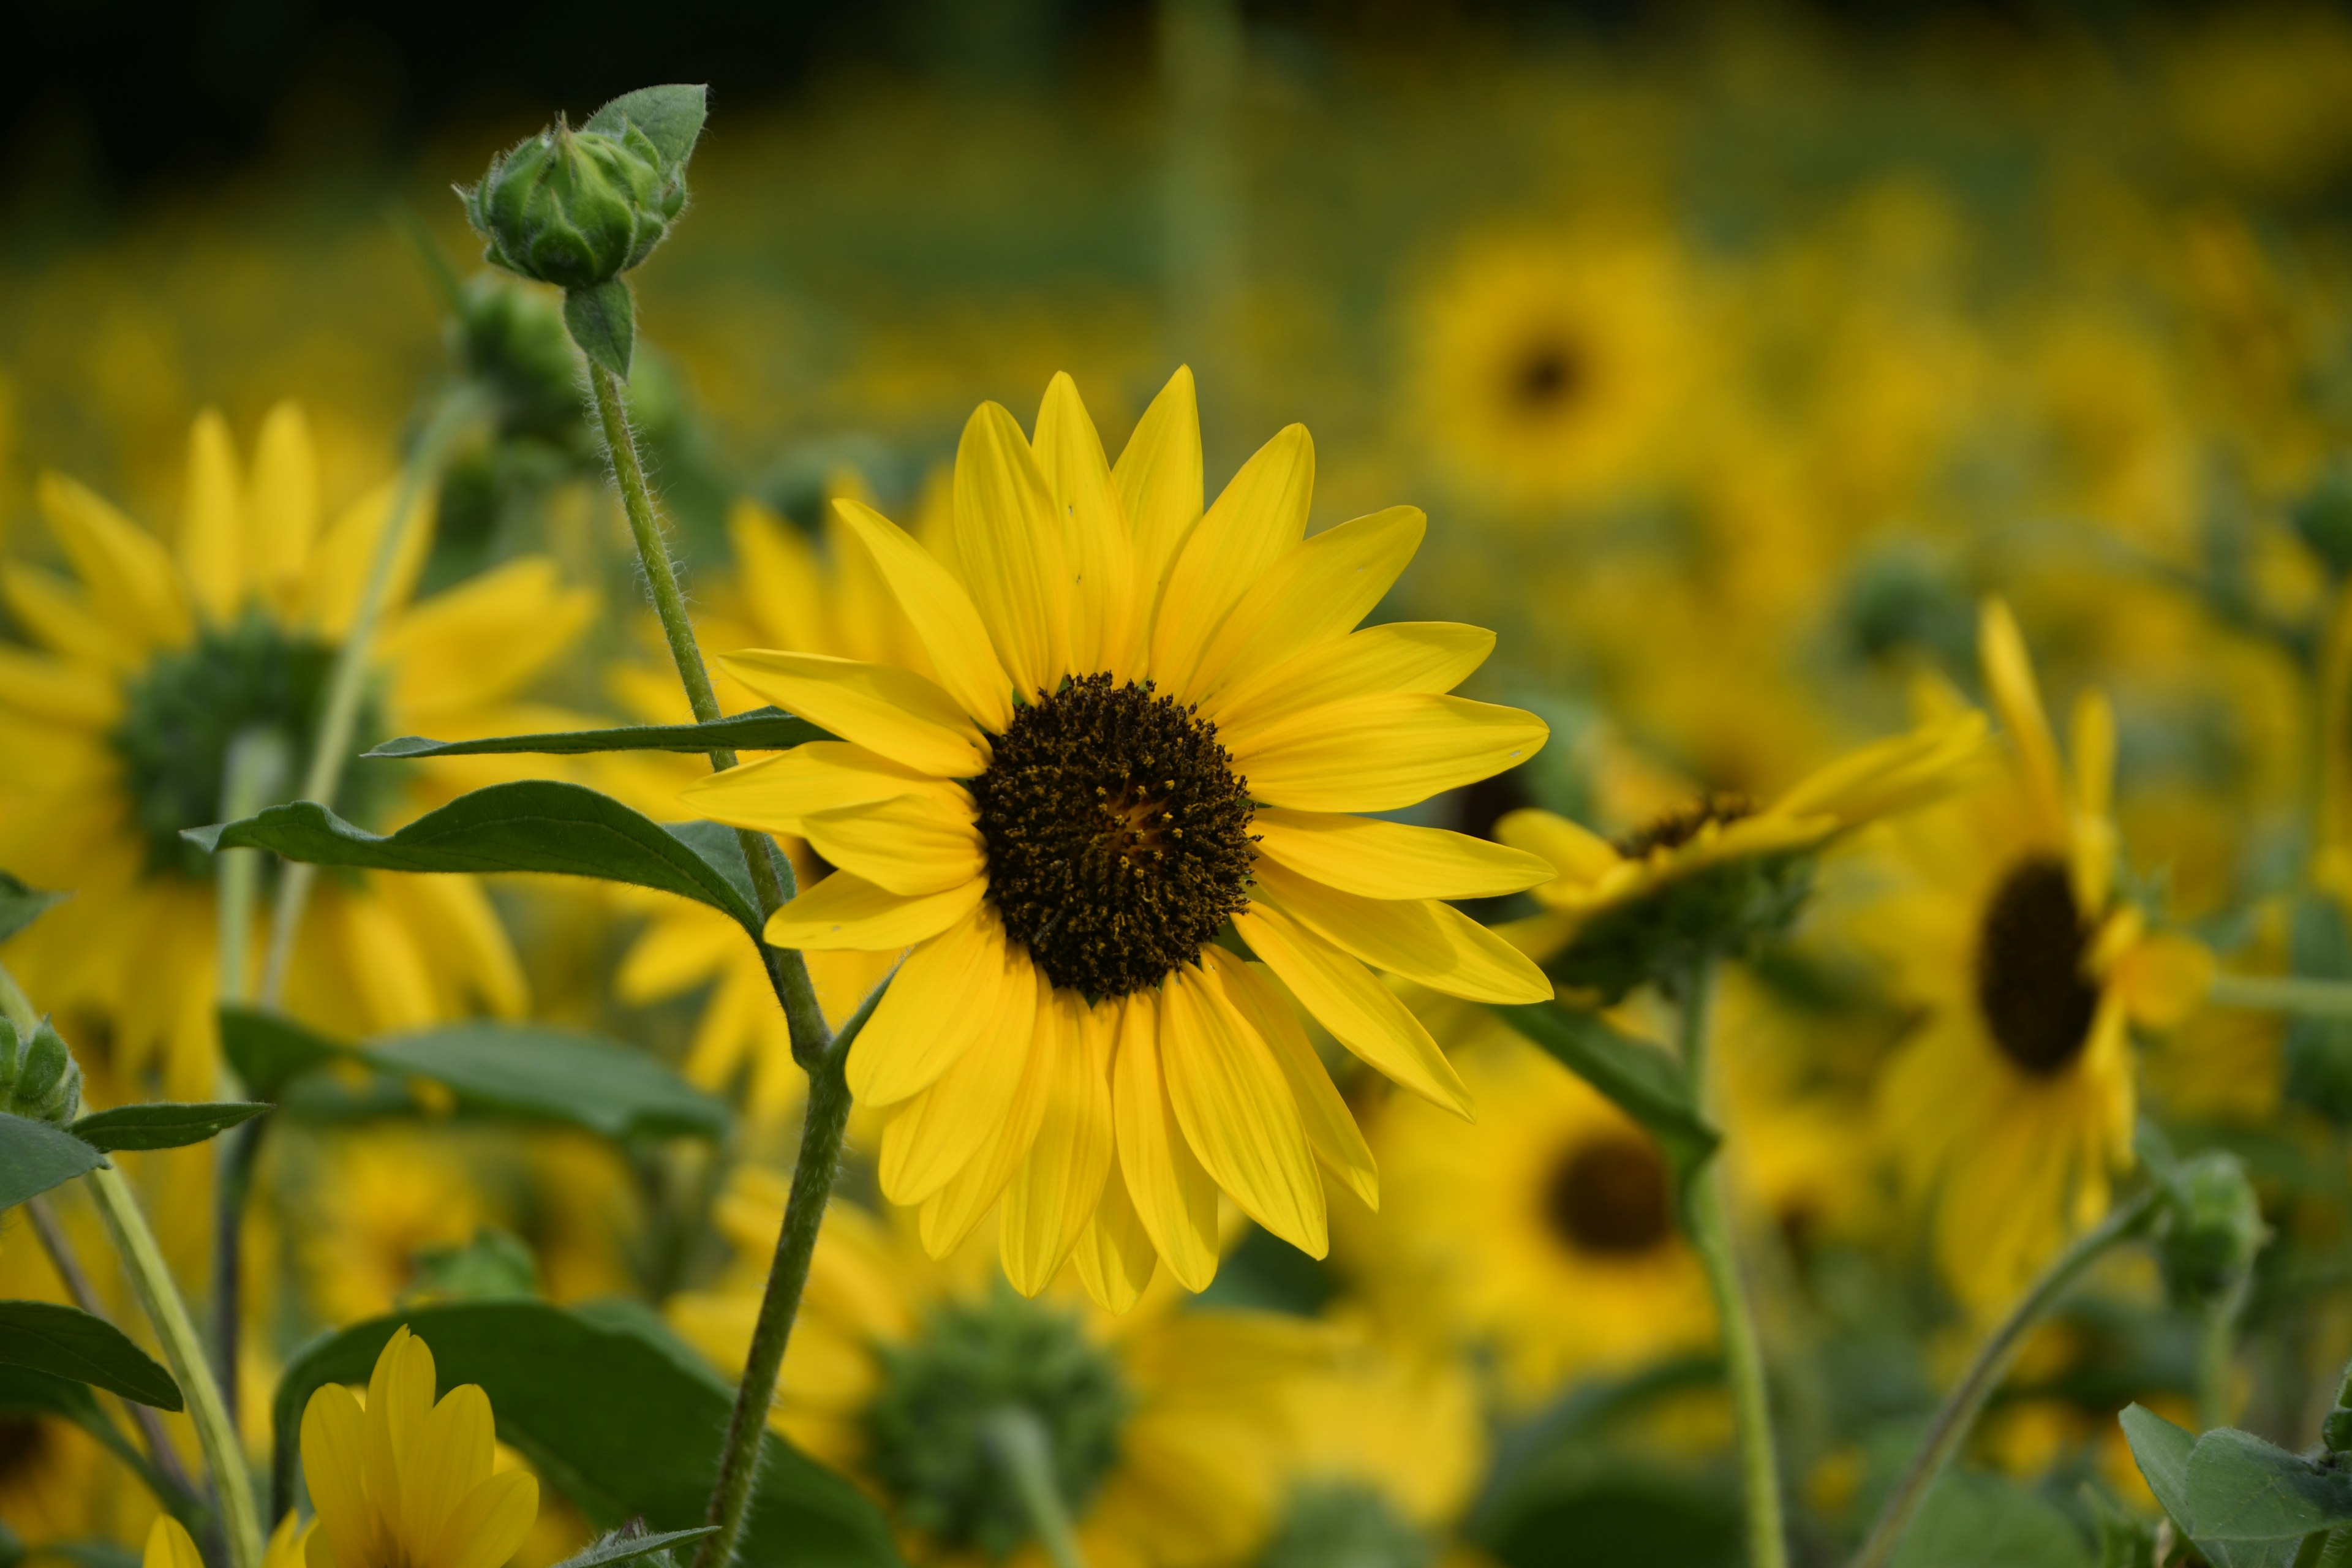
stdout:
{"type": "Polygon", "coordinates": [[[1228,750],[1268,806],[1395,811],[1515,769],[1550,733],[1522,708],[1409,693],[1315,708],[1228,750]]]}

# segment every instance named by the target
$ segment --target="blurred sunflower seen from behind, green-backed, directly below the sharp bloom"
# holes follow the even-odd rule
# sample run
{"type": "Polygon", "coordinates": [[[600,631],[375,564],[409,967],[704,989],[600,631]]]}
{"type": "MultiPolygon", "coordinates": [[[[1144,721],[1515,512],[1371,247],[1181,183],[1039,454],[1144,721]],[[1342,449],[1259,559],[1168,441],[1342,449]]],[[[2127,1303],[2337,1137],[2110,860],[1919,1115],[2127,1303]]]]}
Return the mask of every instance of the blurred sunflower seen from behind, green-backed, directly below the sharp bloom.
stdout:
{"type": "MultiPolygon", "coordinates": [[[[774,1173],[743,1166],[717,1208],[731,1276],[670,1300],[673,1326],[727,1371],[750,1345],[783,1199],[774,1173]]],[[[1232,1563],[1270,1521],[1289,1380],[1322,1368],[1331,1345],[1305,1319],[1181,1305],[1162,1288],[1112,1319],[1075,1291],[1023,1300],[985,1253],[931,1262],[835,1204],[769,1420],[877,1495],[917,1563],[1042,1568],[988,1448],[985,1422],[1007,1406],[1044,1427],[1089,1563],[1232,1563]]]]}

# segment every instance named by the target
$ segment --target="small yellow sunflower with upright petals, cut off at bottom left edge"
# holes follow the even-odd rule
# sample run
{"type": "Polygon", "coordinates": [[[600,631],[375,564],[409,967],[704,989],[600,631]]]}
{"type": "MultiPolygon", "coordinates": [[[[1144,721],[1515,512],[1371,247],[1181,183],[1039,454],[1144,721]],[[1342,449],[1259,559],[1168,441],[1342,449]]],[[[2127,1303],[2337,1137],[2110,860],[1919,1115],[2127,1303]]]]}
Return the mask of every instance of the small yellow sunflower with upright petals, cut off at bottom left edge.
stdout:
{"type": "Polygon", "coordinates": [[[433,1352],[393,1331],[367,1406],[339,1382],[301,1413],[301,1472],[318,1521],[310,1568],[499,1568],[539,1519],[539,1479],[499,1469],[489,1394],[433,1399],[433,1352]]]}

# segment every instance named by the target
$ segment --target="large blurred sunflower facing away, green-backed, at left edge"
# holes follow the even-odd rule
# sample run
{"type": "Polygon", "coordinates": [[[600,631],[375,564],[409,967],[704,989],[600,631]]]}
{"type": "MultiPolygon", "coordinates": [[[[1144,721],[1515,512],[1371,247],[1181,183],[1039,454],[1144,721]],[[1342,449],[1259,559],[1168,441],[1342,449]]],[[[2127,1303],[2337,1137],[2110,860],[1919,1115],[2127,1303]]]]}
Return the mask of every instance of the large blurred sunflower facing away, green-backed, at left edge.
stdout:
{"type": "MultiPolygon", "coordinates": [[[[0,564],[0,592],[38,644],[0,646],[0,865],[73,891],[12,943],[9,964],[52,1006],[106,1018],[115,1070],[134,1081],[158,1070],[165,1095],[214,1091],[212,860],[179,832],[223,820],[240,733],[273,729],[303,764],[390,503],[386,482],[322,517],[294,404],[263,418],[249,480],[228,423],[205,414],[172,543],[45,475],[40,510],[73,576],[0,564]]],[[[520,559],[409,604],[428,534],[405,541],[358,745],[536,729],[515,691],[581,630],[588,595],[562,588],[550,562],[520,559]]],[[[456,766],[409,788],[355,766],[334,806],[386,827],[435,785],[482,776],[456,766]]],[[[289,1004],[353,1034],[524,1006],[522,971],[470,877],[322,879],[292,973],[289,1004]]]]}

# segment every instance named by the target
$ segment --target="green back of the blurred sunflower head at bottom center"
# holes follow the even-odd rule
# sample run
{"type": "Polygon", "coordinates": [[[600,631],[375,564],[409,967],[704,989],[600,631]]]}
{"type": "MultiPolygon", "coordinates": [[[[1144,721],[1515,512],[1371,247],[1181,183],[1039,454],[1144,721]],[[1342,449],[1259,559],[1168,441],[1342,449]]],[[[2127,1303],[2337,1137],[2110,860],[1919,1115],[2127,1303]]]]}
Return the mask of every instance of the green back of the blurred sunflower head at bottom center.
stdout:
{"type": "Polygon", "coordinates": [[[1047,1436],[1054,1483],[1084,1514],[1120,1462],[1134,1396],[1117,1361],[1068,1312],[1009,1288],[941,1302],[920,1331],[877,1352],[866,1408],[868,1472],[898,1516],[948,1552],[1002,1561],[1030,1519],[990,1448],[990,1425],[1025,1410],[1047,1436]]]}

